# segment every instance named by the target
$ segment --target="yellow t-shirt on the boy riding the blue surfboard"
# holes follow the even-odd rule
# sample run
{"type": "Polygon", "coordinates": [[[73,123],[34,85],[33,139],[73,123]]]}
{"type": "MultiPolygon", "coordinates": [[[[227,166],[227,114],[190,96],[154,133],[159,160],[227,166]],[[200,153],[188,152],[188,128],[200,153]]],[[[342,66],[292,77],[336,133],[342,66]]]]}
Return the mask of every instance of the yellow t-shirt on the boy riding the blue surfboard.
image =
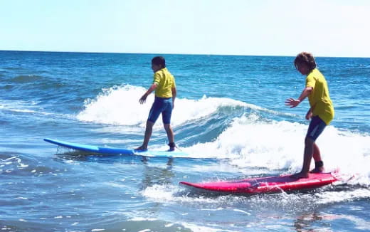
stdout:
{"type": "Polygon", "coordinates": [[[172,97],[172,88],[176,88],[175,78],[167,68],[162,68],[154,73],[153,83],[157,84],[155,95],[157,97],[172,97]]]}

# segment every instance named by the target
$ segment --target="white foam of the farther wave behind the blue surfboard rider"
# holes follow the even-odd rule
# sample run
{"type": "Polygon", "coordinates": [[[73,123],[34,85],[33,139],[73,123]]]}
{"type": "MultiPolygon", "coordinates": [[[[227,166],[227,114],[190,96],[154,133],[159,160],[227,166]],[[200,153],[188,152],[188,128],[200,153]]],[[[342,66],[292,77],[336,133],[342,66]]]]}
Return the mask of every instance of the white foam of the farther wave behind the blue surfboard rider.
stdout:
{"type": "MultiPolygon", "coordinates": [[[[139,98],[146,89],[132,85],[115,86],[103,89],[94,100],[85,100],[85,110],[77,115],[78,120],[112,125],[139,125],[145,127],[147,116],[154,101],[154,95],[147,97],[147,102],[139,104],[139,98]]],[[[181,125],[216,112],[218,107],[250,107],[255,105],[220,97],[202,97],[199,100],[176,98],[171,124],[181,125]],[[179,110],[177,110],[179,109],[179,110]]],[[[160,121],[160,120],[159,120],[160,121]]],[[[162,127],[157,123],[154,127],[162,127]]]]}

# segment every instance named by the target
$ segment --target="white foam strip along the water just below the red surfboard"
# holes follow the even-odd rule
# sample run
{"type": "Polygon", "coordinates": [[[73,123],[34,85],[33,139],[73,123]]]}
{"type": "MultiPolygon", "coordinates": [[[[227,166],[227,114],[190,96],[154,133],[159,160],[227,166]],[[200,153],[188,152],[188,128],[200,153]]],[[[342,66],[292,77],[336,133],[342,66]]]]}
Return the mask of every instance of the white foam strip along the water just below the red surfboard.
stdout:
{"type": "MultiPolygon", "coordinates": [[[[328,188],[330,188],[328,186],[328,188]]],[[[203,195],[188,196],[184,188],[173,185],[153,185],[148,186],[142,191],[142,195],[151,201],[165,204],[194,204],[202,205],[201,211],[228,211],[228,206],[251,204],[264,209],[278,207],[280,209],[304,209],[307,207],[305,202],[310,202],[311,206],[322,204],[333,204],[339,202],[352,201],[354,199],[369,198],[369,189],[349,189],[348,191],[318,191],[315,194],[271,194],[263,196],[216,196],[208,197],[203,195]]],[[[240,213],[250,216],[250,211],[233,209],[240,213]]]]}

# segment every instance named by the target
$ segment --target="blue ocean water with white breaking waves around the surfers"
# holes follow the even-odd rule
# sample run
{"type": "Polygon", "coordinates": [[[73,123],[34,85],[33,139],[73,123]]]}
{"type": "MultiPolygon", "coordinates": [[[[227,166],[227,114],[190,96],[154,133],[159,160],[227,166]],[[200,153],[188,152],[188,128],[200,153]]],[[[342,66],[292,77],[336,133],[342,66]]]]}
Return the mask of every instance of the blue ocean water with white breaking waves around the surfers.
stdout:
{"type": "MultiPolygon", "coordinates": [[[[312,191],[215,195],[179,181],[300,171],[308,102],[293,57],[164,55],[172,126],[189,158],[85,155],[43,138],[138,147],[157,54],[0,51],[1,231],[370,231],[370,58],[317,58],[335,118],[312,191]]],[[[166,149],[162,120],[149,149],[166,149]]],[[[313,164],[312,164],[313,165],[313,164]]]]}

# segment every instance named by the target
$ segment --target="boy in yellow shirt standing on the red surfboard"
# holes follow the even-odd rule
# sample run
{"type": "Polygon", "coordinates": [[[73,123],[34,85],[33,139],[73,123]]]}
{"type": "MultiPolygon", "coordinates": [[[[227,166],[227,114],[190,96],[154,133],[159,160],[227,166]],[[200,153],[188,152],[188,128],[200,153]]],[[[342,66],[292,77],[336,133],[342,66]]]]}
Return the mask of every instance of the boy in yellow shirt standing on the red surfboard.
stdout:
{"type": "Polygon", "coordinates": [[[310,110],[308,110],[306,114],[306,119],[311,119],[305,137],[305,154],[303,157],[302,170],[291,176],[292,178],[300,179],[308,177],[312,156],[314,158],[315,167],[311,172],[324,171],[324,163],[322,162],[320,150],[315,141],[334,118],[334,107],[332,100],[330,100],[327,81],[324,75],[316,68],[316,62],[312,54],[302,52],[297,55],[294,63],[295,68],[297,68],[302,75],[307,75],[306,88],[302,91],[297,100],[293,98],[285,100],[285,105],[291,108],[296,107],[302,100],[308,97],[310,110]]]}

